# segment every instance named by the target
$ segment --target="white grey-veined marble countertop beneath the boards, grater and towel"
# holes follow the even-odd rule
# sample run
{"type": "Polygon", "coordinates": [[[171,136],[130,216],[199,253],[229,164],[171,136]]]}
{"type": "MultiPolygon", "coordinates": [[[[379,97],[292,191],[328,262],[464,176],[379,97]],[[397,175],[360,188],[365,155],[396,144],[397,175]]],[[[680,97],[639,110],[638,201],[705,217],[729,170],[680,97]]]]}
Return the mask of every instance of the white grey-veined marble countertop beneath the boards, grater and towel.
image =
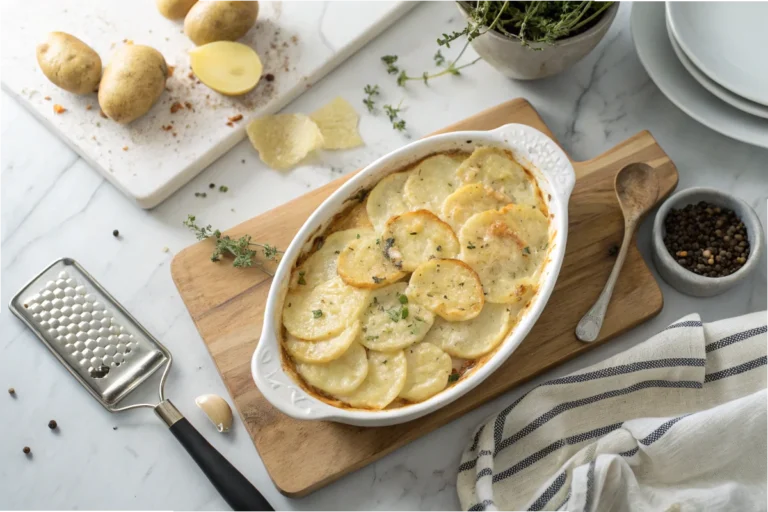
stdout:
{"type": "MultiPolygon", "coordinates": [[[[311,111],[336,94],[359,105],[363,86],[378,83],[385,91],[383,101],[403,100],[409,133],[418,137],[524,96],[575,158],[590,158],[648,129],[676,162],[680,187],[708,185],[733,192],[755,207],[768,225],[768,152],[726,139],[672,106],[638,62],[628,20],[629,6],[624,5],[597,50],[552,79],[513,82],[481,62],[461,77],[436,80],[428,88],[416,83],[398,89],[379,57],[398,54],[409,69],[421,70],[431,65],[436,36],[460,26],[450,2],[427,0],[289,110],[311,111]]],[[[193,403],[199,394],[226,391],[171,281],[173,254],[193,241],[181,221],[194,213],[217,226],[234,225],[406,142],[382,115],[363,115],[361,129],[365,148],[325,153],[289,173],[265,169],[247,142],[241,143],[169,201],[147,212],[2,94],[0,298],[8,300],[51,260],[62,255],[78,259],[171,349],[176,361],[168,396],[277,510],[455,510],[455,470],[469,432],[534,383],[300,500],[275,490],[239,420],[233,432],[219,435],[193,403]],[[210,182],[230,190],[211,192],[210,182]],[[196,191],[206,191],[208,197],[196,198],[196,191]],[[113,229],[120,230],[120,240],[112,237],[113,229]],[[163,252],[164,246],[169,253],[163,252]]],[[[647,258],[649,224],[639,237],[647,258]]],[[[657,318],[543,378],[626,349],[686,313],[697,311],[713,320],[768,309],[765,264],[754,279],[717,299],[692,299],[666,285],[662,288],[665,307],[657,318]]],[[[5,308],[0,309],[0,325],[0,508],[226,510],[151,412],[110,415],[5,308]],[[5,394],[9,386],[16,388],[17,398],[5,394]],[[60,425],[55,434],[46,426],[52,418],[60,425]],[[22,454],[24,445],[32,448],[31,459],[22,454]]]]}

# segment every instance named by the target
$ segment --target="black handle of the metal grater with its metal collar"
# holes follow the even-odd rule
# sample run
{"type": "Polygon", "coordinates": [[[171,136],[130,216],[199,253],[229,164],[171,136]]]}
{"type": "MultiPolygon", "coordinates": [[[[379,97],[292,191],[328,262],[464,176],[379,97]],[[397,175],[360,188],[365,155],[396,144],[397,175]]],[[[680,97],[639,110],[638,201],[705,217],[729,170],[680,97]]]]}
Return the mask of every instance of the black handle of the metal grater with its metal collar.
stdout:
{"type": "Polygon", "coordinates": [[[197,462],[208,480],[235,512],[274,512],[275,509],[251,482],[211,446],[168,400],[161,402],[155,408],[155,412],[170,424],[171,433],[197,462]],[[165,404],[170,407],[163,407],[165,404]]]}

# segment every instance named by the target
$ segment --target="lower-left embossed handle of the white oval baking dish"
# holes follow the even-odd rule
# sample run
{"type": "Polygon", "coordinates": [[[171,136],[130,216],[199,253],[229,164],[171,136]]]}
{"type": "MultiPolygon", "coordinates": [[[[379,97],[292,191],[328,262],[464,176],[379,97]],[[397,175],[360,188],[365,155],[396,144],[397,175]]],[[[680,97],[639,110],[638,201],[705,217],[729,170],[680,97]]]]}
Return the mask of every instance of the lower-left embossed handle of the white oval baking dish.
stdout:
{"type": "MultiPolygon", "coordinates": [[[[266,326],[265,326],[266,332],[266,326]]],[[[281,412],[301,420],[320,420],[328,417],[324,404],[309,396],[285,372],[276,340],[262,336],[253,353],[251,370],[261,394],[281,412]]]]}

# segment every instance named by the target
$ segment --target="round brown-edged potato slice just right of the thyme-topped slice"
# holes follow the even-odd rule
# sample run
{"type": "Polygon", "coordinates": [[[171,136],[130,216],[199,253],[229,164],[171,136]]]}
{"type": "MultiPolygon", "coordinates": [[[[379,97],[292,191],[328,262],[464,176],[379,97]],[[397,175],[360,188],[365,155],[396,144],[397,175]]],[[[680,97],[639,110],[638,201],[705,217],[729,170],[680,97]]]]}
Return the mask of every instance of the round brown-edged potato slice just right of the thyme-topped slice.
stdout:
{"type": "Polygon", "coordinates": [[[429,260],[411,275],[408,297],[452,322],[470,320],[485,303],[483,285],[472,268],[459,260],[429,260]]]}

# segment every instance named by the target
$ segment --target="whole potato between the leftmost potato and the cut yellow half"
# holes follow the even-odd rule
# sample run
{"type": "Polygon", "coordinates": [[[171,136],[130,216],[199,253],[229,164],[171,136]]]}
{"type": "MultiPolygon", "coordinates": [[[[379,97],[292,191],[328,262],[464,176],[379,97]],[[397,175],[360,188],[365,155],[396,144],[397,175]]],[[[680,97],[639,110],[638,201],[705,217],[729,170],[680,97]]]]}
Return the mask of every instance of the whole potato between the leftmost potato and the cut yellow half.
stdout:
{"type": "Polygon", "coordinates": [[[168,66],[149,46],[126,44],[109,61],[99,85],[99,106],[112,120],[127,124],[152,108],[165,90],[168,66]]]}

